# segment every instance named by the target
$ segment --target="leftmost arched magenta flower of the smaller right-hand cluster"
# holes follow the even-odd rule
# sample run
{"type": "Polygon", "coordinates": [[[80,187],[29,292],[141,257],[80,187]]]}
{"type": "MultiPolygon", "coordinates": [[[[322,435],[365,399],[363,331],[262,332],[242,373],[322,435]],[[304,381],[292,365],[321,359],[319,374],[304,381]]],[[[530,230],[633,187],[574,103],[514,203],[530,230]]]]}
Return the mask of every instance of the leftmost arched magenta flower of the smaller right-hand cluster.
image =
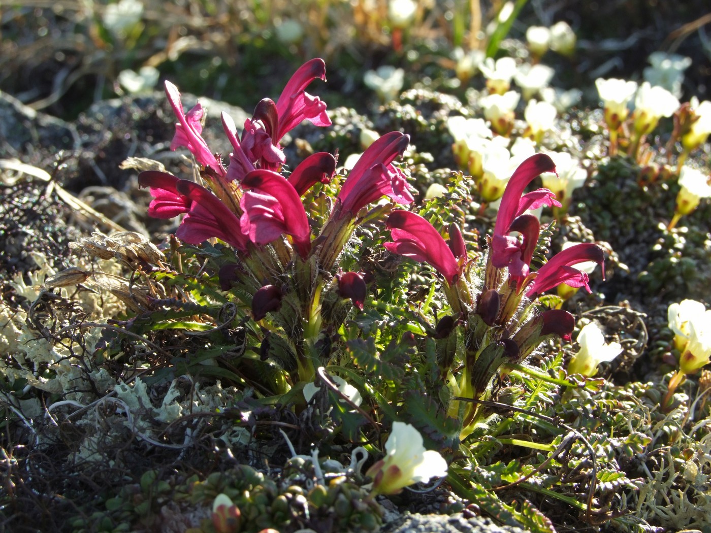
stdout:
{"type": "Polygon", "coordinates": [[[415,261],[429,263],[444,276],[449,285],[461,274],[456,257],[432,224],[414,212],[396,210],[385,222],[393,242],[385,242],[385,248],[395,254],[415,261]]]}

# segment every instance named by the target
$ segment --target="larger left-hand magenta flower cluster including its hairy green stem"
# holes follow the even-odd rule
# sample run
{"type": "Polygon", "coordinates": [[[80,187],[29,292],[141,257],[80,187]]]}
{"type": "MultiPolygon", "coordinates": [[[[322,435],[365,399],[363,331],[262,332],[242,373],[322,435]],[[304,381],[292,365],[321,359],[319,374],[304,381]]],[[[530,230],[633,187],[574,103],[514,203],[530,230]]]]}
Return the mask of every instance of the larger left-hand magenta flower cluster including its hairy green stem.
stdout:
{"type": "MultiPolygon", "coordinates": [[[[310,194],[314,185],[326,186],[331,181],[336,158],[326,152],[312,154],[285,177],[286,158],[279,143],[304,120],[316,126],[331,124],[326,104],[306,92],[311,82],[325,78],[323,60],[302,65],[276,102],[264,98],[257,104],[241,136],[223,113],[223,129],[233,149],[228,166],[210,151],[201,135],[201,104],[185,112],[177,88],[166,82],[166,94],[178,119],[171,148],[185,147],[193,154],[205,185],[160,171],[139,175],[139,183],[149,187],[154,197],[149,215],[164,219],[184,215],[176,231],[179,239],[190,244],[219,239],[230,245],[234,262],[220,268],[220,281],[223,289],[229,289],[235,278],[253,288],[255,321],[283,311],[282,321],[292,333],[299,332],[292,338],[296,338],[295,377],[300,381],[314,377],[314,345],[324,326],[324,291],[363,307],[363,277],[357,272],[331,274],[336,258],[360,223],[358,213],[383,195],[400,204],[413,200],[405,173],[392,164],[402,156],[409,137],[392,131],[373,141],[360,156],[320,235],[313,238],[302,197],[310,194]],[[284,298],[288,306],[282,306],[284,298]]],[[[338,324],[329,328],[337,329],[338,324]]]]}

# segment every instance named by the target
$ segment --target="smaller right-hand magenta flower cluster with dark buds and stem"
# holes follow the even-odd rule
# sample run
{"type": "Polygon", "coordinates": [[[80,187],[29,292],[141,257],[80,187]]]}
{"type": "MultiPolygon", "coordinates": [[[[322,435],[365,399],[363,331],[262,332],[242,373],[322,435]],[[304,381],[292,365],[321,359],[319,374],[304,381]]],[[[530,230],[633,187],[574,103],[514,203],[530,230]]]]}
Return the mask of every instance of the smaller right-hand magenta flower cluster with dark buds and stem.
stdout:
{"type": "MultiPolygon", "coordinates": [[[[570,339],[574,325],[570,313],[560,309],[541,313],[535,311],[533,303],[538,295],[564,283],[590,291],[587,272],[575,265],[594,262],[604,267],[602,249],[597,244],[582,243],[555,254],[537,270],[532,268],[540,222],[525,211],[542,205],[560,207],[546,188],[524,192],[536,176],[545,172],[555,172],[555,164],[545,154],[527,158],[513,172],[501,197],[483,271],[469,260],[456,225],[450,225],[449,240],[445,240],[415,212],[395,210],[387,218],[392,242],[386,242],[385,247],[426,262],[439,272],[454,313],[451,323],[461,324],[466,330],[464,369],[457,380],[457,396],[481,398],[492,372],[502,364],[524,360],[552,335],[570,339]]],[[[452,357],[451,353],[440,354],[443,375],[451,371],[452,357]]],[[[451,413],[456,414],[459,408],[453,405],[451,413]]],[[[462,436],[466,436],[476,421],[476,407],[467,404],[463,409],[462,436]]]]}

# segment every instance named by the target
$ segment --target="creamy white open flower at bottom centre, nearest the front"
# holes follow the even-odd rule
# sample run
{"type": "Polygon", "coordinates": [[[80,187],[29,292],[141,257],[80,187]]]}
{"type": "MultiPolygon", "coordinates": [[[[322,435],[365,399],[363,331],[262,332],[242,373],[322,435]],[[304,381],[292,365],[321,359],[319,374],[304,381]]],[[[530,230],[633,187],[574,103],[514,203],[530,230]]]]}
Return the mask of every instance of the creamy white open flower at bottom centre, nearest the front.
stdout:
{"type": "Polygon", "coordinates": [[[438,451],[426,450],[422,435],[411,424],[393,422],[385,443],[385,457],[370,467],[376,494],[397,494],[409,485],[447,475],[447,461],[438,451]]]}

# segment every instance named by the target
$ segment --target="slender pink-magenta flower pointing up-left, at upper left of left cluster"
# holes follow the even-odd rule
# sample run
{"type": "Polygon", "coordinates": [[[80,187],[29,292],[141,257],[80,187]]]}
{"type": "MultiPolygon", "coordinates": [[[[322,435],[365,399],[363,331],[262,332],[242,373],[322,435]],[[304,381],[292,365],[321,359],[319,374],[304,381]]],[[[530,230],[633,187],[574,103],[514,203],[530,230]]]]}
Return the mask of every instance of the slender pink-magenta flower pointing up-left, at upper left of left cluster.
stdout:
{"type": "Polygon", "coordinates": [[[225,176],[226,171],[222,161],[210,151],[208,144],[201,136],[203,131],[203,124],[201,123],[204,113],[203,106],[198,102],[186,114],[183,111],[178,87],[169,81],[166,81],[165,87],[173,112],[178,118],[176,134],[173,136],[173,142],[171,142],[171,150],[177,149],[178,146],[185,146],[195,156],[198,163],[205,167],[213,168],[219,176],[225,176]]]}

